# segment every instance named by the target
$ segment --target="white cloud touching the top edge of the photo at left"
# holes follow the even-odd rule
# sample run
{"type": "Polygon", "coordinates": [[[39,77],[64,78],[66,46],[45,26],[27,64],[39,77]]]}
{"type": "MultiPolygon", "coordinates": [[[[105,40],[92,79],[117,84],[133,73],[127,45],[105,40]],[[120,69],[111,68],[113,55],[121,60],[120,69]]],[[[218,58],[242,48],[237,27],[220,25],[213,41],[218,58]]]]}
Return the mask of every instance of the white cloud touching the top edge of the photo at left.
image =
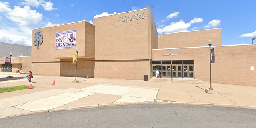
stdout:
{"type": "MultiPolygon", "coordinates": [[[[23,2],[20,3],[20,5],[30,6],[30,7],[36,7],[38,8],[39,5],[43,6],[44,10],[51,11],[55,10],[54,3],[52,2],[46,2],[44,0],[23,0],[23,2]]],[[[65,8],[65,7],[64,7],[65,8]]]]}

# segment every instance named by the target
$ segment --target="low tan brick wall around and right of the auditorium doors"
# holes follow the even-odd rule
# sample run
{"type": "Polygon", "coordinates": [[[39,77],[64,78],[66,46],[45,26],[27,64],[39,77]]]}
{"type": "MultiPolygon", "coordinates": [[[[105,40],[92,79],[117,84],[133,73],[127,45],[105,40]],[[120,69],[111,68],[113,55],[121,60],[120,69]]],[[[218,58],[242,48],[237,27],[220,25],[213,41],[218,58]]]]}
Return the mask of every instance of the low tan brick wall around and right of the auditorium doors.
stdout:
{"type": "MultiPolygon", "coordinates": [[[[256,86],[256,45],[211,47],[215,52],[212,82],[256,86]],[[254,66],[254,70],[250,67],[254,66]]],[[[210,82],[209,47],[153,50],[153,60],[194,60],[195,79],[210,82]],[[163,54],[180,53],[176,56],[163,54]]]]}

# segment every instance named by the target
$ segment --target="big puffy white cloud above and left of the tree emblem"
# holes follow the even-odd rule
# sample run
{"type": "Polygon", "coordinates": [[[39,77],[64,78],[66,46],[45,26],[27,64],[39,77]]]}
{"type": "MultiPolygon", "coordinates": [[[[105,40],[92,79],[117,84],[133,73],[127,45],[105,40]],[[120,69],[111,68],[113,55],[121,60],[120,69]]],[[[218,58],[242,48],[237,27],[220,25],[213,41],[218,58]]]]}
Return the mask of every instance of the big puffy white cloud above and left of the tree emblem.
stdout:
{"type": "Polygon", "coordinates": [[[6,14],[6,18],[16,22],[19,26],[29,26],[41,22],[43,14],[31,10],[28,6],[24,6],[24,8],[14,6],[14,9],[6,14]]]}

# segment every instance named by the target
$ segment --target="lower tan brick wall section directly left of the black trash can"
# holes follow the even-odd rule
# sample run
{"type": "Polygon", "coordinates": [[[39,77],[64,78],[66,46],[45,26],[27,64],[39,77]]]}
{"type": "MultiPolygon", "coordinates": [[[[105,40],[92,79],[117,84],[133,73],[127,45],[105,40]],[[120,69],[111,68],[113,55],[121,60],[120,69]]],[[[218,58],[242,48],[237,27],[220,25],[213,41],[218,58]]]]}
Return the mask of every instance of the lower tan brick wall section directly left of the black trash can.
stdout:
{"type": "Polygon", "coordinates": [[[144,80],[144,75],[152,77],[149,60],[95,62],[95,78],[144,80]]]}

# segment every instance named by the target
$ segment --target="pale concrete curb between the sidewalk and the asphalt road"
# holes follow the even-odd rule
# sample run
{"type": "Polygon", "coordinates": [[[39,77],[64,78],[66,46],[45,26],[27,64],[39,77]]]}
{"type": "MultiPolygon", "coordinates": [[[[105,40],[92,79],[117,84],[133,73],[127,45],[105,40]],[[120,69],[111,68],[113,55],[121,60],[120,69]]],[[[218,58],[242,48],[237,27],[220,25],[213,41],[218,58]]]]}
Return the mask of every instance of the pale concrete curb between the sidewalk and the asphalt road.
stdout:
{"type": "Polygon", "coordinates": [[[98,104],[98,105],[79,106],[79,107],[70,107],[70,108],[54,108],[54,109],[50,109],[50,110],[42,110],[42,111],[36,111],[36,112],[28,112],[28,113],[13,114],[13,115],[9,115],[9,116],[2,116],[2,117],[0,117],[0,119],[16,117],[16,116],[25,116],[25,115],[31,115],[31,114],[47,113],[47,112],[58,112],[58,111],[65,111],[65,110],[100,108],[100,107],[110,107],[110,106],[138,105],[138,104],[214,106],[214,107],[244,108],[244,109],[256,110],[256,106],[234,105],[234,104],[210,104],[210,103],[206,104],[206,103],[192,103],[192,102],[124,102],[124,103],[98,104]]]}

